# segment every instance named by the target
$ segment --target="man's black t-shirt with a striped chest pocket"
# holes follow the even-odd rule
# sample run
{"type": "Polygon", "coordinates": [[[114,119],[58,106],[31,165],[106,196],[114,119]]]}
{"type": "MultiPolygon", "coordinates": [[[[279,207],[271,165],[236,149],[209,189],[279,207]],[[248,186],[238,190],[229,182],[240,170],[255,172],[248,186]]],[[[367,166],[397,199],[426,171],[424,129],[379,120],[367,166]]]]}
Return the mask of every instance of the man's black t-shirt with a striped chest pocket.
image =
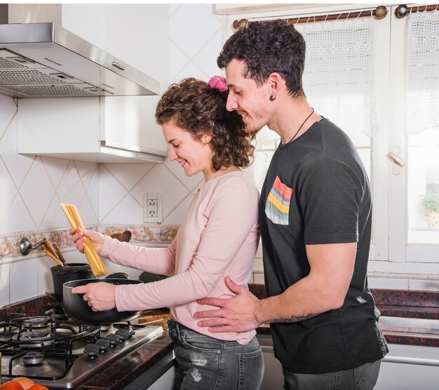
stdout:
{"type": "Polygon", "coordinates": [[[367,173],[349,137],[327,119],[278,147],[259,206],[267,296],[309,274],[306,245],[357,243],[341,308],[297,323],[273,323],[276,357],[291,371],[319,374],[377,361],[387,353],[367,287],[372,201],[367,173]]]}

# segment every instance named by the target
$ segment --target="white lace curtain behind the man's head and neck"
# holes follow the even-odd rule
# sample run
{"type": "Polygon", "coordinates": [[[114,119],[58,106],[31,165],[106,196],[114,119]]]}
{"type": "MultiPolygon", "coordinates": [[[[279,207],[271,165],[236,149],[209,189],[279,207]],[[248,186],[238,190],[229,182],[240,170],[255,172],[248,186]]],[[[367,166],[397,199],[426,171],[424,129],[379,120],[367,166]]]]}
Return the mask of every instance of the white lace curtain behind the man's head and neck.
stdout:
{"type": "Polygon", "coordinates": [[[304,91],[348,134],[377,132],[372,18],[295,25],[306,41],[304,91]]]}

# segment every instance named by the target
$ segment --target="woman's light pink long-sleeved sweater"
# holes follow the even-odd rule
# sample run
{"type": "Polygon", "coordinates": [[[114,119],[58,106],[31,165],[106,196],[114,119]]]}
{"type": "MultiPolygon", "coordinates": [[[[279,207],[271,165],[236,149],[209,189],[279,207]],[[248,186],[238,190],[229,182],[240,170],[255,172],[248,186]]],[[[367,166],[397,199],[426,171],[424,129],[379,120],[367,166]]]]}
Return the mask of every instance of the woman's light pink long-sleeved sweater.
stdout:
{"type": "Polygon", "coordinates": [[[247,285],[259,241],[257,188],[243,171],[205,182],[191,202],[177,236],[168,248],[145,248],[105,237],[100,252],[112,262],[154,274],[174,275],[141,285],[118,285],[119,311],[170,307],[174,321],[222,340],[246,344],[250,332],[210,333],[199,328],[196,311],[218,309],[199,305],[203,297],[232,297],[224,283],[230,276],[247,285]]]}

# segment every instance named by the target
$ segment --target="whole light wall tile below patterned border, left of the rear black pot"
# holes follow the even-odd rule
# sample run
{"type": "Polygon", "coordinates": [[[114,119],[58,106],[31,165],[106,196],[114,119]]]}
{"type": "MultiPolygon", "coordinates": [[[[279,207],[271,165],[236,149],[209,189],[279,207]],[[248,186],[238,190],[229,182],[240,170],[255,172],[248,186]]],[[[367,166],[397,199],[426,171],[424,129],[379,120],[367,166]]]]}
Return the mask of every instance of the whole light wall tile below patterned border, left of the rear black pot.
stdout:
{"type": "Polygon", "coordinates": [[[11,303],[38,295],[38,259],[11,263],[11,303]]]}

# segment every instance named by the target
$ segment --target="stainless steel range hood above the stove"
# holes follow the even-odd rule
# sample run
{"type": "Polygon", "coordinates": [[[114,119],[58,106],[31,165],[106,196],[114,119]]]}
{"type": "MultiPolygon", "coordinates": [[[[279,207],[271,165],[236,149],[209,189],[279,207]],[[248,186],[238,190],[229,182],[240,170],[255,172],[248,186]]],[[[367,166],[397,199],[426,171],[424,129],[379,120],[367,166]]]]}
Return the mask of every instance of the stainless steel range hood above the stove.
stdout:
{"type": "Polygon", "coordinates": [[[158,95],[158,81],[62,28],[61,9],[0,4],[0,94],[158,95]]]}

